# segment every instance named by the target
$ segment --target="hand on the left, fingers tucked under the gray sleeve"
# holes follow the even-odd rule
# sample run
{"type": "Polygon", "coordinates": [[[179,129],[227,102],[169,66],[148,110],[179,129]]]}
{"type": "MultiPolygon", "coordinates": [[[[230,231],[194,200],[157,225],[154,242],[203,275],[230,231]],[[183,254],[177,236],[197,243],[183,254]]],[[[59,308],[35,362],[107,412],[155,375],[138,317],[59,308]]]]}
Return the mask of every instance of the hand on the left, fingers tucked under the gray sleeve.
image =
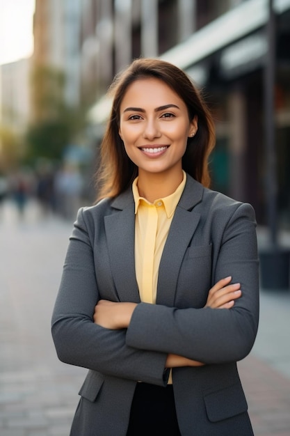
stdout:
{"type": "Polygon", "coordinates": [[[136,306],[136,303],[116,303],[100,299],[95,306],[94,322],[106,329],[126,329],[136,306]]]}

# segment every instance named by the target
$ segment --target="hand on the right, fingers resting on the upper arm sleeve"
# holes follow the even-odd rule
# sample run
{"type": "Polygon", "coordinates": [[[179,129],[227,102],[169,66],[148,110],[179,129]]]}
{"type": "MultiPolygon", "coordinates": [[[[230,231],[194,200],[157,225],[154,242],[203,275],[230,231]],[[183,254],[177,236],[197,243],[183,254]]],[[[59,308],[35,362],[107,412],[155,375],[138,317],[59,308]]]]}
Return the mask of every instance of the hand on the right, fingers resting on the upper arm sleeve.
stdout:
{"type": "Polygon", "coordinates": [[[210,290],[204,307],[211,309],[231,309],[236,299],[241,297],[241,283],[229,284],[232,277],[225,277],[210,290]]]}

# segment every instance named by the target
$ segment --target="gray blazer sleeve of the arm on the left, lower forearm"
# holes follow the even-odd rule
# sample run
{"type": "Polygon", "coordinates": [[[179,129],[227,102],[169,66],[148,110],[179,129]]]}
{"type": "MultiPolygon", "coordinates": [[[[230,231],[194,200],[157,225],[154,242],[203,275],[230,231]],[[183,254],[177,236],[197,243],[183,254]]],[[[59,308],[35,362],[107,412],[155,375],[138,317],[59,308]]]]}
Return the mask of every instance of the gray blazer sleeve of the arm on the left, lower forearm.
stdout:
{"type": "Polygon", "coordinates": [[[105,375],[166,385],[166,354],[126,343],[126,330],[105,329],[93,322],[99,299],[89,232],[79,211],[67,249],[63,276],[51,320],[58,358],[105,375]]]}

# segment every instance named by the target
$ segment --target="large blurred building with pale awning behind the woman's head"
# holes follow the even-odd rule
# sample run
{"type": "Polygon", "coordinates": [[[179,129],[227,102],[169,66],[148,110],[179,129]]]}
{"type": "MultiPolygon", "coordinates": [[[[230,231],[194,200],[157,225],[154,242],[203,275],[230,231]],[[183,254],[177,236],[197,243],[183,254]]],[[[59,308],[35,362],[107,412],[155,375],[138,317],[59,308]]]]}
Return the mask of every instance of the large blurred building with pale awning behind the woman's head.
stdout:
{"type": "MultiPolygon", "coordinates": [[[[81,25],[82,74],[97,84],[90,111],[96,134],[116,72],[138,56],[175,63],[204,89],[214,113],[214,189],[252,203],[259,224],[266,224],[268,6],[268,0],[83,0],[81,25]]],[[[277,201],[280,224],[289,227],[290,0],[273,0],[273,9],[277,201]]]]}

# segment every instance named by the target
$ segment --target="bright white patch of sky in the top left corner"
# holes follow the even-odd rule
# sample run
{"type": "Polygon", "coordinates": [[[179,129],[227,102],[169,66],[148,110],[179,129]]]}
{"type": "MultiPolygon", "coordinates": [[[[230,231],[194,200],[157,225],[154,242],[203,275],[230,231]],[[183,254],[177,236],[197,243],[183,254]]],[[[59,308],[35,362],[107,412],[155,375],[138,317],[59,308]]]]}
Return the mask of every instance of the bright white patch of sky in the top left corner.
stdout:
{"type": "Polygon", "coordinates": [[[0,65],[33,53],[35,0],[0,0],[0,65]]]}

